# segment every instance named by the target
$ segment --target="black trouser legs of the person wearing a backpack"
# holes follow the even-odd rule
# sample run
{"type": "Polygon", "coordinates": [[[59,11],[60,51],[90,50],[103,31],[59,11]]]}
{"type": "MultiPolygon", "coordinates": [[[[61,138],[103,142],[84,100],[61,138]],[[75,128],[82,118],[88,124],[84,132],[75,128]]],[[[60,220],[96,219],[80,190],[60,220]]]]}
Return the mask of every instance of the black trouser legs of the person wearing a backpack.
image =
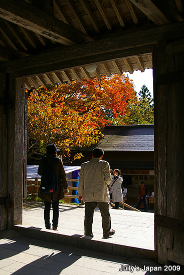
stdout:
{"type": "Polygon", "coordinates": [[[46,229],[51,228],[50,223],[50,211],[51,211],[51,203],[53,208],[53,219],[52,219],[52,225],[54,227],[58,227],[58,219],[59,219],[59,200],[55,202],[51,201],[44,201],[45,208],[44,208],[44,220],[45,220],[45,227],[46,229]]]}

